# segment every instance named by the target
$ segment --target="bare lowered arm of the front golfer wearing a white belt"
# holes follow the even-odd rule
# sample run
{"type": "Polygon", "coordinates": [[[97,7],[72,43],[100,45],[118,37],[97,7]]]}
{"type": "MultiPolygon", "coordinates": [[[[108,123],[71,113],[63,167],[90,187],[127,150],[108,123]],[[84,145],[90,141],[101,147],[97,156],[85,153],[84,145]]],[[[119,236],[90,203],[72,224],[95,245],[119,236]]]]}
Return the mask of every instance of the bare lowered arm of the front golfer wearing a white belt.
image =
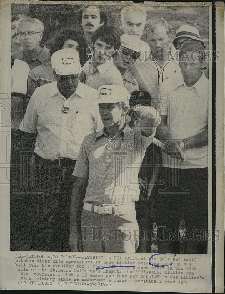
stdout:
{"type": "Polygon", "coordinates": [[[82,252],[81,213],[88,180],[76,177],[71,196],[69,245],[74,252],[82,252]]]}

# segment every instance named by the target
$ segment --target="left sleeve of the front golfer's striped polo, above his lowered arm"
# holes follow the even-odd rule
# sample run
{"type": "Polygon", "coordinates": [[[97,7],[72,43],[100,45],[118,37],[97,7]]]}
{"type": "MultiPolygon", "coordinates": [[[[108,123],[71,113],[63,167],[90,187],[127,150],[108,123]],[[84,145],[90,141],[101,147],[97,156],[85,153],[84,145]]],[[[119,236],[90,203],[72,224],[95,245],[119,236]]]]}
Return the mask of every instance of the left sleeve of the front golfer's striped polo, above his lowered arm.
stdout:
{"type": "Polygon", "coordinates": [[[88,156],[87,156],[85,147],[87,147],[86,137],[81,143],[81,148],[80,148],[80,152],[74,167],[73,176],[88,179],[89,161],[88,161],[88,156]]]}

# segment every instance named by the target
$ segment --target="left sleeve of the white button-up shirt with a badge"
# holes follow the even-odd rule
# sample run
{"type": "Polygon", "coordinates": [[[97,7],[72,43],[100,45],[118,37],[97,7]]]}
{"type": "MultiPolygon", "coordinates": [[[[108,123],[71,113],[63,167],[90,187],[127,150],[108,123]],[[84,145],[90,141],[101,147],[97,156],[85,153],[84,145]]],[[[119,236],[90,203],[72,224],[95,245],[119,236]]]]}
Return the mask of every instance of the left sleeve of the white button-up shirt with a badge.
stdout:
{"type": "Polygon", "coordinates": [[[36,99],[38,98],[38,94],[36,91],[31,96],[31,99],[28,103],[26,113],[24,115],[23,120],[19,126],[19,129],[23,132],[27,133],[37,133],[37,106],[36,99]]]}

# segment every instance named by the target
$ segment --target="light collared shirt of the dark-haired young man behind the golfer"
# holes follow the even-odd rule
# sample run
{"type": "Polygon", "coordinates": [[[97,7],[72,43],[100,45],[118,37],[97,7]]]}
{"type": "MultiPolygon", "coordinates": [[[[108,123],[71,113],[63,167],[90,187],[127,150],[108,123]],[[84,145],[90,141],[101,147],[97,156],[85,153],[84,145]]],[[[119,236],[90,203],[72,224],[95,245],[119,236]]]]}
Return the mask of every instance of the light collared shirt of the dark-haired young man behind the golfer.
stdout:
{"type": "Polygon", "coordinates": [[[121,73],[113,64],[113,59],[106,61],[94,68],[94,61],[87,61],[82,71],[86,75],[85,85],[98,89],[102,85],[124,86],[121,73]]]}

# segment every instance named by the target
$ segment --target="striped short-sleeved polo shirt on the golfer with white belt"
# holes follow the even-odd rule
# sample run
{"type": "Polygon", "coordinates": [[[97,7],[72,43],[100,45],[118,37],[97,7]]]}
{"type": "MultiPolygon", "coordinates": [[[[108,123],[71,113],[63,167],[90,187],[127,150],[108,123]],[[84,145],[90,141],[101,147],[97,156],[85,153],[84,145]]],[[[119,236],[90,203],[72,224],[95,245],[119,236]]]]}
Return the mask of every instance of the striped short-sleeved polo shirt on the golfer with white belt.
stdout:
{"type": "Polygon", "coordinates": [[[154,137],[129,126],[113,138],[104,129],[84,138],[73,175],[88,179],[83,202],[123,204],[138,201],[138,171],[154,137]],[[97,171],[97,172],[96,172],[97,171]]]}

